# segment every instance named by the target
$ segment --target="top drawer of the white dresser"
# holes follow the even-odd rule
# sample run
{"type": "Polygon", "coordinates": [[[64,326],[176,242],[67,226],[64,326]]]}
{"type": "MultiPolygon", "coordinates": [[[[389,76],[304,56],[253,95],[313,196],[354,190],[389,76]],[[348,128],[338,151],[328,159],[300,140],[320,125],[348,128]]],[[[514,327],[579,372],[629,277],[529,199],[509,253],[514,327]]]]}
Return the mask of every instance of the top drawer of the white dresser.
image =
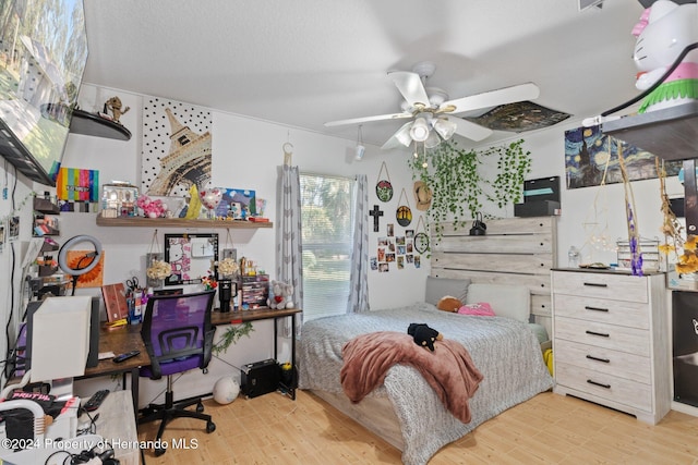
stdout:
{"type": "Polygon", "coordinates": [[[556,294],[610,298],[613,301],[648,302],[646,278],[628,274],[553,272],[556,294]]]}

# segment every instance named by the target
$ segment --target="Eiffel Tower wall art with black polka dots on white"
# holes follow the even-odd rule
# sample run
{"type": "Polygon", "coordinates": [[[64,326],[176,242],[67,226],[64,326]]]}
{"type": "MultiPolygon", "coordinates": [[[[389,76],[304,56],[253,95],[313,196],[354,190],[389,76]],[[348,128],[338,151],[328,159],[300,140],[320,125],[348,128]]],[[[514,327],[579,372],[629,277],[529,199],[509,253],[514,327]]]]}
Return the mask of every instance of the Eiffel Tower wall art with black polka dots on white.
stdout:
{"type": "Polygon", "coordinates": [[[141,192],[184,197],[210,181],[210,111],[158,97],[143,99],[141,192]]]}

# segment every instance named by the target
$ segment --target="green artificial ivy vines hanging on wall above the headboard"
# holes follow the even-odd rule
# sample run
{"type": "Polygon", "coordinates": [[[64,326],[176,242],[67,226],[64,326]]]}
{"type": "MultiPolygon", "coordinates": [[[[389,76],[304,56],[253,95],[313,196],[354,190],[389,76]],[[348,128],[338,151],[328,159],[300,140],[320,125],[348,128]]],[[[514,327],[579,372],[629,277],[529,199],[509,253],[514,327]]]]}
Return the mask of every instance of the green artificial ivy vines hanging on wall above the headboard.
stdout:
{"type": "MultiPolygon", "coordinates": [[[[432,189],[428,216],[437,241],[449,220],[454,229],[465,228],[482,211],[483,198],[500,208],[521,199],[525,178],[531,172],[531,152],[524,150],[522,144],[519,139],[478,152],[459,148],[452,139],[409,160],[412,178],[432,189]],[[491,181],[479,170],[485,157],[497,157],[496,175],[491,181]]],[[[485,217],[491,216],[485,212],[485,217]]]]}

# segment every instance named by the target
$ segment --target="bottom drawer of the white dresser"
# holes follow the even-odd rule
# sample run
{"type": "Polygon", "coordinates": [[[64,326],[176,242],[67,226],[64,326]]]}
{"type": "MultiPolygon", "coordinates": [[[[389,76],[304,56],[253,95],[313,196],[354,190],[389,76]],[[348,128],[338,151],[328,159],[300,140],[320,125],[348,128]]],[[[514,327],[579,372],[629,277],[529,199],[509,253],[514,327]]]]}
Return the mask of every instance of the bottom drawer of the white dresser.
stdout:
{"type": "Polygon", "coordinates": [[[555,381],[564,387],[633,408],[652,411],[652,388],[650,384],[563,363],[555,363],[555,381]]]}

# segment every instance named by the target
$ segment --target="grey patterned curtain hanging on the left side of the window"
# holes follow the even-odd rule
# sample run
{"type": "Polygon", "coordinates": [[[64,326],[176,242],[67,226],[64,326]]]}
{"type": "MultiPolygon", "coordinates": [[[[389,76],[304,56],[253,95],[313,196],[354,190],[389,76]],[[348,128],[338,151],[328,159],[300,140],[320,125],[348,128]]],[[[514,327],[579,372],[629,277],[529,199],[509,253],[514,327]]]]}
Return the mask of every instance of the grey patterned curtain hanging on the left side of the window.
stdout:
{"type": "MultiPolygon", "coordinates": [[[[293,286],[293,303],[303,308],[303,262],[301,240],[301,185],[298,167],[291,167],[290,154],[279,169],[277,185],[276,279],[293,286]]],[[[296,321],[296,330],[301,321],[296,321]]],[[[290,338],[291,326],[284,318],[279,334],[290,338]]]]}

